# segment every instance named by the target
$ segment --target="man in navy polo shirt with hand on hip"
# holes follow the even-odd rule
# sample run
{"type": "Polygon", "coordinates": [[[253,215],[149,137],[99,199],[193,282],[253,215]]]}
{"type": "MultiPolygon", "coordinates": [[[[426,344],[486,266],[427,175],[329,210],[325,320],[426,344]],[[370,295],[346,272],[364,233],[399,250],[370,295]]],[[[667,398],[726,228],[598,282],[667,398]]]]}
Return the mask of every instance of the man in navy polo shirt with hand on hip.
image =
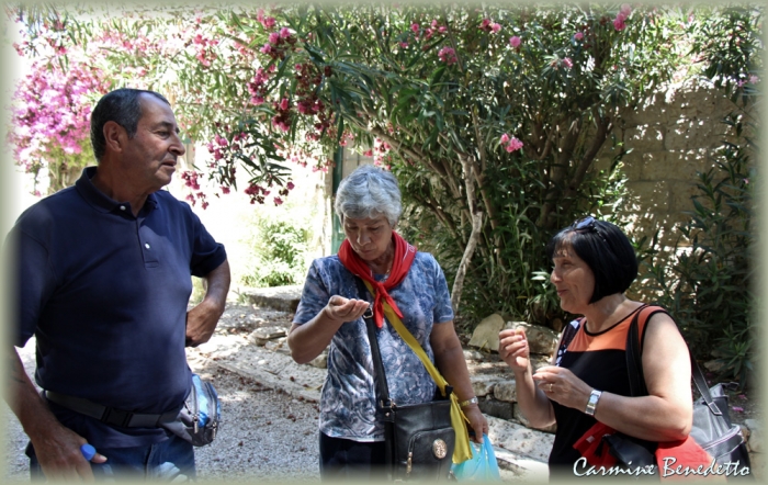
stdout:
{"type": "Polygon", "coordinates": [[[224,312],[226,252],[188,204],[160,190],[184,154],[163,97],[104,95],[91,143],[97,167],[25,211],[9,234],[18,255],[13,345],[35,336],[45,392],[13,349],[7,399],[30,437],[33,478],[191,480],[192,445],[160,424],[190,391],[184,347],[207,341],[224,312]],[[191,274],[207,291],[188,312],[191,274]],[[104,410],[101,418],[82,403],[104,410]],[[97,449],[90,463],[84,443],[97,449]]]}

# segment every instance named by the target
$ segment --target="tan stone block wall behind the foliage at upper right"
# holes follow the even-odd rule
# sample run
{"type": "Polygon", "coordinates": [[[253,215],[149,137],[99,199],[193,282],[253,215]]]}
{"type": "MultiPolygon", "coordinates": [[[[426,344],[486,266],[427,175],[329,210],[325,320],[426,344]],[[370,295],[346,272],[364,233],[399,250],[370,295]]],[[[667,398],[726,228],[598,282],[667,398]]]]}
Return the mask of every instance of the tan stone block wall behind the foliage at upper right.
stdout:
{"type": "MultiPolygon", "coordinates": [[[[713,166],[711,157],[726,136],[724,117],[734,110],[721,91],[702,83],[658,92],[637,110],[622,113],[617,137],[632,151],[624,156],[630,199],[622,215],[634,221],[635,235],[662,230],[665,243],[677,237],[670,228],[688,221],[697,171],[713,166]]],[[[610,167],[614,153],[603,147],[596,167],[610,167]]]]}

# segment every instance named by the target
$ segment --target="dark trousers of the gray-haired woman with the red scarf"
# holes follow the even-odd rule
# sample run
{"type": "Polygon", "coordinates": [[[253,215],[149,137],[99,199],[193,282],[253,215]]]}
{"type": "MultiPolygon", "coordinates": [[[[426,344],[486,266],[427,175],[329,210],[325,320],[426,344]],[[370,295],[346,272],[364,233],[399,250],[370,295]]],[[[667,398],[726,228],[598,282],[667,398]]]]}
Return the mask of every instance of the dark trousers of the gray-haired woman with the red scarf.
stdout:
{"type": "Polygon", "coordinates": [[[386,480],[384,441],[352,441],[320,431],[323,482],[386,480]]]}

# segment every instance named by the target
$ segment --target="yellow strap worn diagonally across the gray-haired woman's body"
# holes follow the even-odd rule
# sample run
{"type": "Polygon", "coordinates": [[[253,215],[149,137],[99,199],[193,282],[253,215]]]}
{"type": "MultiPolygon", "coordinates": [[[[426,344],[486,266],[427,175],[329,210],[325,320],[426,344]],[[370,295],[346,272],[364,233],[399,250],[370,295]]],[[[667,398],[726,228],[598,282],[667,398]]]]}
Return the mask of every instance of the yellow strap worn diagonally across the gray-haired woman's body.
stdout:
{"type": "MultiPolygon", "coordinates": [[[[365,283],[368,291],[371,292],[372,295],[375,294],[371,283],[364,280],[363,282],[365,283]]],[[[416,337],[414,337],[413,334],[408,331],[406,326],[403,325],[403,322],[400,322],[400,318],[397,316],[395,311],[392,309],[392,306],[389,306],[389,304],[386,302],[383,303],[386,319],[392,324],[400,338],[408,343],[408,347],[410,347],[410,349],[419,357],[423,363],[423,366],[427,368],[427,372],[429,372],[429,375],[432,376],[434,383],[438,385],[440,394],[442,394],[444,397],[445,385],[448,385],[448,382],[440,374],[440,371],[438,371],[432,361],[429,360],[427,352],[423,351],[421,345],[418,342],[418,340],[416,340],[416,337]]],[[[472,449],[470,448],[470,432],[467,431],[464,422],[470,422],[470,420],[466,419],[464,411],[461,410],[456,393],[451,393],[451,426],[456,433],[456,444],[453,449],[453,463],[462,463],[472,458],[472,449]]]]}

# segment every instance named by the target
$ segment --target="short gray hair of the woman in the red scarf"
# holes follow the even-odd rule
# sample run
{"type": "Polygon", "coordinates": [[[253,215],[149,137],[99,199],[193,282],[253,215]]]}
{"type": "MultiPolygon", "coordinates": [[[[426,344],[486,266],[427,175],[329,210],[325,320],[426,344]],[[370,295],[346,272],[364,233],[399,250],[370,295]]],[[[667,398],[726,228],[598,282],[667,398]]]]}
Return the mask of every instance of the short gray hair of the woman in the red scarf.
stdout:
{"type": "Polygon", "coordinates": [[[397,179],[387,170],[362,165],[339,184],[334,208],[342,224],[345,217],[363,219],[384,214],[394,227],[403,212],[397,179]]]}

